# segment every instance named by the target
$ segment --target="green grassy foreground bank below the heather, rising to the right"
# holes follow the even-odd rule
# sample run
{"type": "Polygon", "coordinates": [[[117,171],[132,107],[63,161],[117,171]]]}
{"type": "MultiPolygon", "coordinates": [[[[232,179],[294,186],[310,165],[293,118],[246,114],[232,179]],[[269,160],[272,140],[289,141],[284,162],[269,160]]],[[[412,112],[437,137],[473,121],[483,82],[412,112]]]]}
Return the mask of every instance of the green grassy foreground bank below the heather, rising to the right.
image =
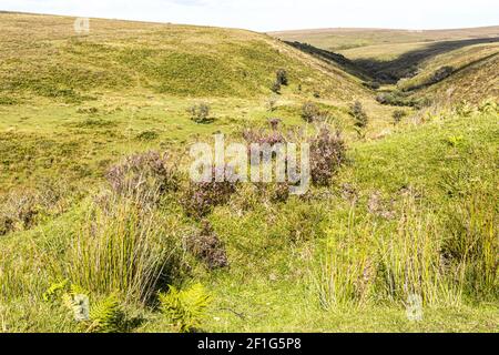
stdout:
{"type": "MultiPolygon", "coordinates": [[[[461,227],[459,223],[462,226],[469,221],[475,223],[467,219],[479,219],[475,233],[483,233],[481,227],[488,225],[497,236],[493,222],[497,220],[496,119],[497,113],[439,116],[422,125],[407,123],[390,138],[367,144],[357,142],[350,146],[349,163],[335,179],[334,185],[314,189],[310,199],[293,197],[282,204],[263,203],[261,197],[242,186],[227,206],[217,207],[208,217],[226,245],[231,267],[210,272],[189,260],[191,277],[205,284],[214,300],[202,329],[496,332],[499,324],[497,294],[493,296],[493,292],[497,293],[497,270],[496,281],[492,280],[495,284],[489,285],[492,288],[480,288],[486,284],[475,284],[475,278],[454,280],[452,276],[426,285],[420,290],[425,296],[421,322],[407,318],[405,295],[389,296],[390,293],[383,288],[383,277],[366,276],[374,283],[373,290],[366,288],[370,290],[366,291],[366,298],[347,294],[345,303],[333,303],[327,307],[323,303],[327,294],[317,287],[329,285],[328,275],[334,275],[335,268],[344,271],[338,274],[343,281],[334,281],[342,284],[355,275],[350,268],[354,265],[370,265],[366,270],[373,267],[380,273],[383,268],[378,268],[380,266],[376,263],[378,257],[389,262],[387,265],[395,263],[391,267],[401,263],[399,267],[403,271],[407,267],[404,266],[406,261],[410,260],[407,265],[427,261],[429,263],[421,265],[421,271],[429,274],[421,274],[421,280],[431,281],[427,277],[436,277],[435,273],[440,270],[438,246],[447,245],[439,243],[450,239],[452,231],[461,227]],[[454,136],[460,139],[452,140],[454,136]],[[356,202],[343,194],[344,183],[356,191],[356,202]],[[381,210],[393,212],[394,217],[369,212],[369,200],[375,193],[380,196],[381,210]],[[476,205],[478,210],[460,211],[468,205],[468,200],[462,196],[473,195],[485,199],[476,205]],[[405,210],[407,196],[416,199],[411,212],[405,210]],[[467,211],[478,214],[468,215],[467,211]],[[462,220],[455,221],[454,217],[462,220]],[[405,231],[407,234],[400,234],[405,231]],[[416,243],[413,246],[416,254],[404,254],[410,253],[411,248],[405,247],[413,245],[405,244],[404,235],[416,237],[410,240],[416,243]],[[401,244],[395,246],[393,243],[401,244]],[[333,268],[324,264],[332,255],[329,253],[339,257],[333,268]],[[442,288],[447,282],[450,282],[449,288],[442,288]]],[[[42,293],[57,280],[57,271],[70,262],[71,243],[79,233],[82,216],[86,215],[81,207],[75,206],[32,231],[2,237],[0,315],[3,331],[79,331],[71,321],[71,313],[47,304],[42,293]]],[[[173,222],[169,224],[169,233],[179,237],[185,233],[189,235],[192,222],[177,209],[171,206],[159,210],[159,213],[169,223],[173,222]]],[[[483,234],[477,234],[477,237],[479,243],[483,242],[483,234]]],[[[491,241],[496,243],[491,245],[495,253],[497,239],[491,241]]],[[[468,262],[477,263],[464,264],[468,272],[485,267],[480,266],[480,260],[470,258],[468,262]]],[[[366,270],[360,268],[360,274],[366,270]]],[[[444,274],[438,277],[444,277],[444,274]]],[[[417,284],[413,280],[408,285],[417,284]]],[[[399,286],[400,290],[405,287],[399,286]]],[[[131,315],[142,318],[142,324],[134,328],[136,332],[174,331],[154,308],[133,302],[128,303],[126,308],[131,315]]]]}

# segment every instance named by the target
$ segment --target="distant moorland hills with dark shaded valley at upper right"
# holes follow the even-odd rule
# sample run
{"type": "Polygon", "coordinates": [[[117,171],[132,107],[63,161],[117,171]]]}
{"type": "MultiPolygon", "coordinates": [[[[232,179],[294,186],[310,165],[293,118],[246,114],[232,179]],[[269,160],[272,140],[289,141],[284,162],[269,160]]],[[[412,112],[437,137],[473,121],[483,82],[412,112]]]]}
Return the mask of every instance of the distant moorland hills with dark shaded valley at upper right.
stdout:
{"type": "Polygon", "coordinates": [[[397,84],[413,99],[477,103],[483,95],[499,95],[498,33],[499,28],[488,27],[438,31],[325,29],[272,34],[288,42],[309,43],[307,52],[329,57],[363,80],[370,77],[381,84],[397,84]],[[355,48],[343,48],[343,41],[355,48]]]}

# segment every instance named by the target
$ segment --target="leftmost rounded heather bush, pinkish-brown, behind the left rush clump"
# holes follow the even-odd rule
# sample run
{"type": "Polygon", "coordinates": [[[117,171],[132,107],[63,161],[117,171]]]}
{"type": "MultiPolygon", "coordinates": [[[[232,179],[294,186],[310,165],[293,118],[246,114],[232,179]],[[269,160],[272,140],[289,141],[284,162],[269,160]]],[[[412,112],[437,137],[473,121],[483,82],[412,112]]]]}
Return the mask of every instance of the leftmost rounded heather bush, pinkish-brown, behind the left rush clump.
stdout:
{"type": "Polygon", "coordinates": [[[179,186],[177,173],[166,155],[155,151],[128,156],[108,171],[106,179],[119,195],[140,196],[149,202],[179,186]]]}

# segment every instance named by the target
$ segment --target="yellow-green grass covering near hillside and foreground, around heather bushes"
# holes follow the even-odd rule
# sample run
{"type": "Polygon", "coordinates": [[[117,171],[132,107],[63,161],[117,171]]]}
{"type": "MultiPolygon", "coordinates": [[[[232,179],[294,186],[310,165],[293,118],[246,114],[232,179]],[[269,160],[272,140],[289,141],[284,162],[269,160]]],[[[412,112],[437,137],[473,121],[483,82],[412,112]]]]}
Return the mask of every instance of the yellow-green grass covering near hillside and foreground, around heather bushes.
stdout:
{"type": "MultiPolygon", "coordinates": [[[[425,115],[407,109],[394,126],[395,108],[378,104],[359,80],[264,34],[91,20],[90,34],[79,37],[72,18],[0,18],[0,197],[12,194],[16,202],[34,191],[60,199],[50,211],[42,200],[33,223],[0,235],[0,332],[81,332],[68,308],[43,300],[65,277],[90,288],[91,302],[116,285],[126,288],[115,291],[128,316],[140,320],[131,331],[175,331],[154,300],[139,300],[154,298],[156,290],[144,274],[129,274],[126,250],[152,262],[142,266],[172,253],[182,275],[169,273],[161,291],[169,283],[208,288],[213,303],[202,331],[498,329],[498,274],[490,263],[498,247],[490,237],[497,235],[497,106],[425,115]],[[288,71],[289,87],[275,95],[269,84],[278,68],[288,71]],[[242,71],[247,75],[238,77],[242,71]],[[238,186],[207,216],[231,267],[210,271],[183,248],[200,222],[180,205],[182,186],[152,214],[149,207],[129,213],[134,210],[120,203],[120,213],[106,214],[99,205],[110,189],[104,173],[123,156],[167,151],[185,170],[191,142],[220,131],[241,139],[244,128],[271,118],[284,128],[304,125],[301,109],[309,100],[344,130],[347,163],[332,186],[282,203],[238,186]],[[369,116],[364,136],[348,113],[355,100],[369,116]],[[213,122],[190,119],[187,109],[200,102],[210,104],[213,122]],[[462,260],[461,244],[470,248],[462,260]],[[147,246],[142,254],[140,245],[147,246]],[[438,266],[448,257],[441,246],[457,250],[450,273],[438,266]],[[358,293],[363,266],[380,275],[389,270],[397,287],[369,276],[358,293]],[[405,315],[405,272],[424,296],[421,323],[405,315]]],[[[481,70],[487,77],[493,67],[481,70]]]]}

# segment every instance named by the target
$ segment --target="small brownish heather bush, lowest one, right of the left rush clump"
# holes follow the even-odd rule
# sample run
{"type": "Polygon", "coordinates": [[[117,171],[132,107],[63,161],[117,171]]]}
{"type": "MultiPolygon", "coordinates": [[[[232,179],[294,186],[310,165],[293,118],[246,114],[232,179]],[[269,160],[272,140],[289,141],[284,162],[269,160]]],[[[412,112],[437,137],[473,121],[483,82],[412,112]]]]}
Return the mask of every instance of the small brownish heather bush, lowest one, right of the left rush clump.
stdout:
{"type": "Polygon", "coordinates": [[[201,231],[187,240],[187,248],[210,270],[228,266],[225,246],[207,221],[203,221],[201,231]]]}

